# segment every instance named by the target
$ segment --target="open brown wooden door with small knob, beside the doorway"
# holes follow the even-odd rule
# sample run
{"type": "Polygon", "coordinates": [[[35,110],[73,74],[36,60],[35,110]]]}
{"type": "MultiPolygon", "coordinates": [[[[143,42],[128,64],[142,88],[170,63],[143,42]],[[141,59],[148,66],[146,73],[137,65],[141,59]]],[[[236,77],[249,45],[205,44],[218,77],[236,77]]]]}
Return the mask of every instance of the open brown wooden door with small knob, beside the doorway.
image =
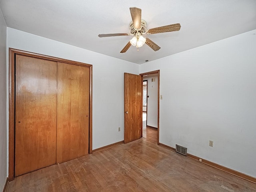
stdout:
{"type": "Polygon", "coordinates": [[[124,143],[142,137],[142,76],[124,73],[124,143]]]}

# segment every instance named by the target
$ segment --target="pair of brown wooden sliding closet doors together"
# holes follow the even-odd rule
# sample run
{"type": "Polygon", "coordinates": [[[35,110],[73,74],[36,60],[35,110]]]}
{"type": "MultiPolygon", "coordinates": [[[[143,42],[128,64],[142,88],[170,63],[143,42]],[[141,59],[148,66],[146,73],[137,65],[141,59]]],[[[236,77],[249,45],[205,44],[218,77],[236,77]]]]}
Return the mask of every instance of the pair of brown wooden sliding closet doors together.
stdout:
{"type": "Polygon", "coordinates": [[[90,68],[16,55],[15,176],[89,152],[90,68]]]}

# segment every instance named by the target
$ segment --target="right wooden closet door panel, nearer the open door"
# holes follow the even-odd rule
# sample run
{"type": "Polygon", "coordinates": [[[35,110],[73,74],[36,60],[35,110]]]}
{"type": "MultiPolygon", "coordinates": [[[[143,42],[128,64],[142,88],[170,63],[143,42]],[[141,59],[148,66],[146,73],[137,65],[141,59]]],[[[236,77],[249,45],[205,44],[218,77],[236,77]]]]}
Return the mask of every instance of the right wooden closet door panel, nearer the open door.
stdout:
{"type": "Polygon", "coordinates": [[[58,62],[57,163],[88,154],[90,68],[58,62]]]}

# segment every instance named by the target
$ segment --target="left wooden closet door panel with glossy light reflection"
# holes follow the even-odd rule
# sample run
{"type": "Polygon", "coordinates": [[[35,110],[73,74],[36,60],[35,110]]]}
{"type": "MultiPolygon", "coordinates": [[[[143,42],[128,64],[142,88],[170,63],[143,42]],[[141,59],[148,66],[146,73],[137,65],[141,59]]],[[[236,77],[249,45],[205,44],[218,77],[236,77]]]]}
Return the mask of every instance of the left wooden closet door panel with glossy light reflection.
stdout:
{"type": "Polygon", "coordinates": [[[56,164],[57,62],[16,55],[15,176],[56,164]]]}

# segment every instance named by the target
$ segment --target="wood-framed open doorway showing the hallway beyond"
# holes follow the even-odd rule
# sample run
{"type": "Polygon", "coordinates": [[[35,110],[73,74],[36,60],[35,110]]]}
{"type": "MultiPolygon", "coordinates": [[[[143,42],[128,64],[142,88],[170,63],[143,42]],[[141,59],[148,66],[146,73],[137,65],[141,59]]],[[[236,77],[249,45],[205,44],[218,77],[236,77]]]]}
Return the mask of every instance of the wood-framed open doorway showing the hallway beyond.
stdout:
{"type": "Polygon", "coordinates": [[[159,144],[160,70],[140,76],[143,78],[142,136],[159,144]]]}

